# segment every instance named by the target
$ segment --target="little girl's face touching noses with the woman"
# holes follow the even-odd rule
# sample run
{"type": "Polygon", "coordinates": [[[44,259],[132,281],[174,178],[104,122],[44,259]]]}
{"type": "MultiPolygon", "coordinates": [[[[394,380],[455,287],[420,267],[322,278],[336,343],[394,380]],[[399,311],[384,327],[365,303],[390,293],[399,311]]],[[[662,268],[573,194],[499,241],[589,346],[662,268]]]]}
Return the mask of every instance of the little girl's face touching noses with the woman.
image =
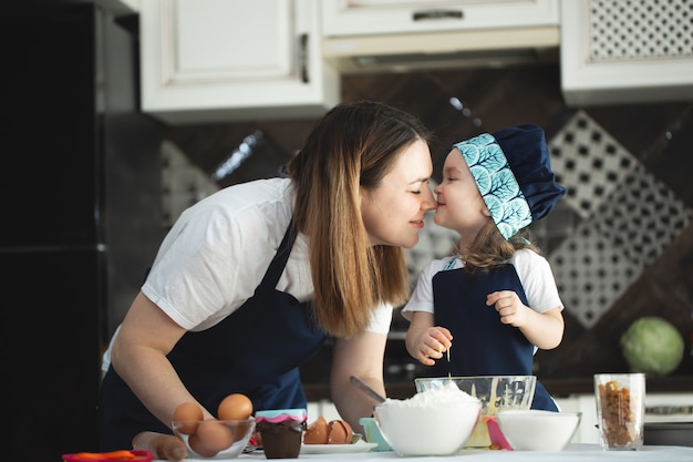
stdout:
{"type": "Polygon", "coordinates": [[[433,220],[456,230],[469,244],[488,223],[490,214],[462,153],[454,147],[443,165],[443,182],[435,187],[438,207],[433,220]]]}

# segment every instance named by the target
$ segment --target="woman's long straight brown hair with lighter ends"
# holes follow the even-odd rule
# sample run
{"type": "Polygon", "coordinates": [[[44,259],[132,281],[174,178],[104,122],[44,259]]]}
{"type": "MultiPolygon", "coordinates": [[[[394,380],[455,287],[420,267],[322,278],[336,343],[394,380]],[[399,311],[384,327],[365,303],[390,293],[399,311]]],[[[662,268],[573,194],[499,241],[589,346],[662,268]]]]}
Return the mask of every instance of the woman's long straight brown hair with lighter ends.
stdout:
{"type": "Polygon", "coordinates": [[[344,103],[317,123],[287,165],[297,191],[293,220],[309,239],[314,314],[328,333],[359,335],[379,304],[399,306],[408,298],[404,249],[371,245],[360,187],[377,188],[404,148],[428,137],[406,112],[344,103]]]}

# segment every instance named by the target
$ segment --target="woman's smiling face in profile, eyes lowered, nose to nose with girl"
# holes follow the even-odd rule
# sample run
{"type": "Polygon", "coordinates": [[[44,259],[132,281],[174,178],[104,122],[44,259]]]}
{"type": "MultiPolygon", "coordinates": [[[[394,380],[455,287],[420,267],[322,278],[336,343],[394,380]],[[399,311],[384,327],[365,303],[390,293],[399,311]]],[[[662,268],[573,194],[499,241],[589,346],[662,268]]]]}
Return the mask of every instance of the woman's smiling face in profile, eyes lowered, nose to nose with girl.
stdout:
{"type": "Polygon", "coordinates": [[[404,148],[376,188],[361,187],[361,216],[372,245],[416,245],[424,214],[436,206],[428,187],[432,172],[428,145],[418,140],[404,148]]]}

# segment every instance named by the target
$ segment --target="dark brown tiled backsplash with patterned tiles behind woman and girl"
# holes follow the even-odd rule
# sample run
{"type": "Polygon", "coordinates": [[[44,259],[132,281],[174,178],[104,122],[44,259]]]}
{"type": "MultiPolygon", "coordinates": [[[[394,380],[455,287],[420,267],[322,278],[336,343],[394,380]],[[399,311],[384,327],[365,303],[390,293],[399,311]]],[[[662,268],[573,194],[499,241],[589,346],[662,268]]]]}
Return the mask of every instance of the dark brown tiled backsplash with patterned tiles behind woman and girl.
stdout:
{"type": "MultiPolygon", "coordinates": [[[[434,179],[454,142],[516,123],[545,127],[552,167],[568,188],[551,214],[531,225],[566,305],[562,343],[535,358],[537,374],[551,378],[625,370],[618,339],[641,316],[669,319],[686,342],[693,332],[693,102],[573,110],[565,105],[559,81],[558,69],[549,65],[348,75],[342,85],[344,101],[384,101],[435,131],[434,179]]],[[[170,143],[189,158],[184,170],[196,172],[177,177],[206,178],[168,191],[200,194],[275,176],[313,123],[170,127],[170,143]],[[267,152],[215,186],[208,179],[213,170],[256,130],[263,132],[267,152]]],[[[427,220],[420,244],[408,251],[413,280],[428,259],[449,254],[455,239],[427,220]]],[[[393,328],[401,331],[406,322],[395,316],[393,328]]],[[[397,338],[389,347],[387,367],[411,369],[397,338]]],[[[693,376],[693,356],[673,374],[693,376]]]]}

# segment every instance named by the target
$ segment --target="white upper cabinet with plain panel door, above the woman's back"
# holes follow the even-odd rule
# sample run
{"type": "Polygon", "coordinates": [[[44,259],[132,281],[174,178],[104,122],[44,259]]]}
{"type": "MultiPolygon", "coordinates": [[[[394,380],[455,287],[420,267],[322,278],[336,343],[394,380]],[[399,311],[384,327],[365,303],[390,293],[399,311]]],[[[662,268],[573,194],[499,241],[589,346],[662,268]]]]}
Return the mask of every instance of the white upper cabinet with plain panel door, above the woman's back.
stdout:
{"type": "Polygon", "coordinates": [[[143,0],[142,111],[169,124],[316,117],[340,100],[318,0],[143,0]]]}

